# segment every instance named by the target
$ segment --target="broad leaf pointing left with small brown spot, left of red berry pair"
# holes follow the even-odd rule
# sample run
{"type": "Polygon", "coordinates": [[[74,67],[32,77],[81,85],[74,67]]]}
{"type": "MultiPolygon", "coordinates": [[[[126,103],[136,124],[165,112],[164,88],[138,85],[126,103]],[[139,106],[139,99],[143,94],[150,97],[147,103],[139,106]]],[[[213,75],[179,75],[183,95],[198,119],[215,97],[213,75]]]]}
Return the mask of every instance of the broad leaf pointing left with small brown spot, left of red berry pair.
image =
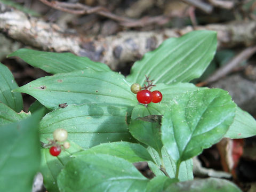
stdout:
{"type": "Polygon", "coordinates": [[[32,95],[49,109],[57,109],[60,103],[137,104],[135,94],[130,91],[130,84],[123,75],[89,68],[38,78],[14,91],[32,95]]]}

